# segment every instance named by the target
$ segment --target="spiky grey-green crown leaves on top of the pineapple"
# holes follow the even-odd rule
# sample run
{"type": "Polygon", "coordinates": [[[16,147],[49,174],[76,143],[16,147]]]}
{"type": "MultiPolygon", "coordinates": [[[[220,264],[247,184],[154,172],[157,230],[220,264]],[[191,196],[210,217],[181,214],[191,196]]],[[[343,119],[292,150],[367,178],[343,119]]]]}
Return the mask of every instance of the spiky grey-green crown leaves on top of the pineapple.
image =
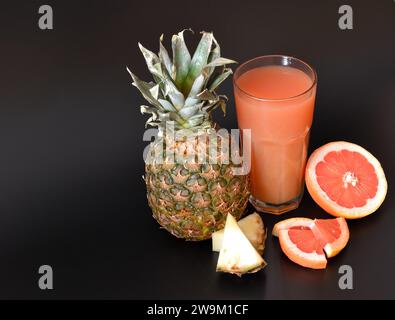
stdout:
{"type": "Polygon", "coordinates": [[[139,43],[152,82],[142,81],[126,68],[132,84],[149,103],[140,107],[141,113],[151,115],[146,125],[162,127],[166,121],[174,121],[177,129],[204,127],[210,126],[210,114],[216,108],[225,114],[227,98],[215,90],[232,74],[226,65],[236,62],[221,57],[220,46],[211,32],[201,32],[191,56],[184,41],[185,31],[171,39],[172,59],[162,43],[163,35],[158,54],[139,43]]]}

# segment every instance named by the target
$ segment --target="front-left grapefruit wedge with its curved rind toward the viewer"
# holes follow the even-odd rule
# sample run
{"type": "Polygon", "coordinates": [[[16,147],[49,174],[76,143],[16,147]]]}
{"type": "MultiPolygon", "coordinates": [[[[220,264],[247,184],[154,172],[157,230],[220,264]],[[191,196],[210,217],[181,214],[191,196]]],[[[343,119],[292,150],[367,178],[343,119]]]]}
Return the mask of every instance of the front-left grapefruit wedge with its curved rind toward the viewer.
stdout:
{"type": "Polygon", "coordinates": [[[278,235],[281,249],[291,261],[306,268],[326,268],[324,250],[311,229],[291,227],[279,230],[278,235]]]}

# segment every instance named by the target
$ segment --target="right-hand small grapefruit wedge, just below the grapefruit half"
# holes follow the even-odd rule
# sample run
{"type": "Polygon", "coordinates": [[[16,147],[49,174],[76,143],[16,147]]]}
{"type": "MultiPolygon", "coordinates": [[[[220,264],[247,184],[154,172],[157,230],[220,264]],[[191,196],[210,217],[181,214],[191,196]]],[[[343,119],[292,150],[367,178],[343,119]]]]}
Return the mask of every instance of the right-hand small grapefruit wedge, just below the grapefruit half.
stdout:
{"type": "Polygon", "coordinates": [[[327,256],[332,258],[344,249],[350,239],[346,219],[316,219],[310,226],[327,256]]]}

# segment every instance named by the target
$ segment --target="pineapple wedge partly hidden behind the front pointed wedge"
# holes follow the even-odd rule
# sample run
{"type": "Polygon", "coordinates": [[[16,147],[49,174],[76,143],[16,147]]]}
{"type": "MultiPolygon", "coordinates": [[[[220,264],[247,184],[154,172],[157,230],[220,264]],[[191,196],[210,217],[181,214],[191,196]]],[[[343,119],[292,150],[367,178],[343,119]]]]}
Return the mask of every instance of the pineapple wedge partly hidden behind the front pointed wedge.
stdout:
{"type": "MultiPolygon", "coordinates": [[[[256,251],[262,255],[265,249],[266,232],[261,216],[255,212],[241,219],[238,225],[256,251]]],[[[212,234],[213,251],[221,251],[223,238],[224,229],[212,234]]]]}

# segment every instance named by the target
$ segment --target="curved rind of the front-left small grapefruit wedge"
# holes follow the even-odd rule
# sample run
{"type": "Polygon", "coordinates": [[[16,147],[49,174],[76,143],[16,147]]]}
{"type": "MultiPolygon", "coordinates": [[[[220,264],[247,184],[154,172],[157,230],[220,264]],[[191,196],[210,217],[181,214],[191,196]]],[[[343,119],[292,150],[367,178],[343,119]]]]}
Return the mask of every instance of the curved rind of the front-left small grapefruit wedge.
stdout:
{"type": "Polygon", "coordinates": [[[306,253],[301,251],[289,237],[288,229],[279,230],[279,240],[282,251],[296,264],[311,269],[325,269],[327,260],[324,254],[316,252],[306,253]]]}

